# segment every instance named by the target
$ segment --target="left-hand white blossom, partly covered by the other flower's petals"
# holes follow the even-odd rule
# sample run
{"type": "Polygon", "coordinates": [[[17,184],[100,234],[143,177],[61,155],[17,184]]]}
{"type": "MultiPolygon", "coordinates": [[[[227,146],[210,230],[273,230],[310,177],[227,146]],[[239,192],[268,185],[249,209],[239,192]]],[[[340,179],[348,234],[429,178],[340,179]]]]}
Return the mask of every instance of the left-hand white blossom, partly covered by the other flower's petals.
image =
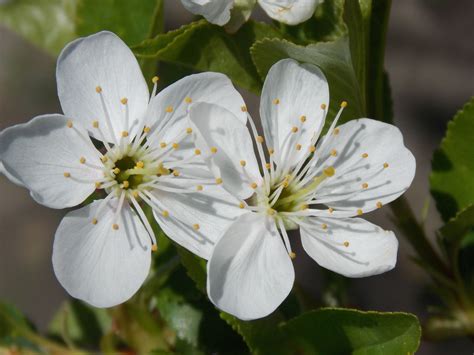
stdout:
{"type": "Polygon", "coordinates": [[[106,196],[68,213],[53,247],[60,283],[98,307],[126,301],[148,275],[156,241],[142,204],[170,238],[203,258],[242,213],[201,160],[187,117],[192,102],[207,102],[245,122],[232,83],[203,73],[156,95],[157,80],[150,97],[135,57],[113,33],[78,39],[58,59],[64,115],[39,116],[0,135],[5,175],[37,202],[68,208],[96,190],[106,196]]]}

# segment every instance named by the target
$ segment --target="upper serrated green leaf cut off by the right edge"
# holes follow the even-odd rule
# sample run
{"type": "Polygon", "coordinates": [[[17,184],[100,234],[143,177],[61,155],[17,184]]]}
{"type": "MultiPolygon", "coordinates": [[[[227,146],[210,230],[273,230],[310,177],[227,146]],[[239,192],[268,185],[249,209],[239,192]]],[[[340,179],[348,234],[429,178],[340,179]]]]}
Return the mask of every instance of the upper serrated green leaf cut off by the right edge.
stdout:
{"type": "Polygon", "coordinates": [[[474,203],[474,98],[448,123],[441,147],[434,153],[431,194],[443,220],[474,203]]]}

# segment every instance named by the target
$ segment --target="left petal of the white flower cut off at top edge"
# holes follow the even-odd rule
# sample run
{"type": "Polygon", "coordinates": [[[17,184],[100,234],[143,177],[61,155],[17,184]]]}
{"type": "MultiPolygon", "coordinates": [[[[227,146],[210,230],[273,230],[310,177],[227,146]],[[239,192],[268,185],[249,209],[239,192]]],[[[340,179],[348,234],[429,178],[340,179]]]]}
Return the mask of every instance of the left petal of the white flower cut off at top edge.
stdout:
{"type": "Polygon", "coordinates": [[[234,0],[181,0],[183,6],[195,15],[201,15],[210,23],[223,26],[230,20],[234,0]]]}

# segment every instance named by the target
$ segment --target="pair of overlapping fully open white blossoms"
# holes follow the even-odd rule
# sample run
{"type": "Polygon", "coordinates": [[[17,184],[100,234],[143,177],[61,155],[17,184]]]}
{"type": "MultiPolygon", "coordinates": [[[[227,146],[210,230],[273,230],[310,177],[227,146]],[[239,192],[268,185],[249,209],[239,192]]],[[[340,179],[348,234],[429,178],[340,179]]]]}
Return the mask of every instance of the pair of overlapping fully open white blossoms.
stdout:
{"type": "Polygon", "coordinates": [[[70,43],[57,83],[64,114],[4,130],[0,156],[4,174],[40,204],[69,208],[93,196],[55,235],[54,271],[73,297],[110,307],[138,290],[157,249],[144,206],[172,240],[209,260],[209,298],[241,319],[268,315],[291,291],[288,230],[339,274],[394,267],[394,234],[357,217],[400,196],[415,160],[392,125],[337,126],[345,102],[321,137],[329,88],[317,67],[287,59],[271,68],[263,135],[222,74],[191,75],[160,93],[155,77],[150,94],[110,32],[70,43]]]}

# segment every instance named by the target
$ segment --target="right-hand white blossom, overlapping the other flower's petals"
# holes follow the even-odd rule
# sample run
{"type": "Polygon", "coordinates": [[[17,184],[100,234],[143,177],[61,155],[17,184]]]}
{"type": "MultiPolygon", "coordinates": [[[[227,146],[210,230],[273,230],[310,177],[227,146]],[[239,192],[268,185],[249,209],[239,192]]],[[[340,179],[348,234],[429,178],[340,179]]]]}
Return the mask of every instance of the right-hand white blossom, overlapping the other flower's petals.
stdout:
{"type": "Polygon", "coordinates": [[[336,128],[345,102],[318,140],[328,106],[318,68],[290,59],[275,64],[261,98],[264,137],[249,116],[259,159],[247,127],[230,110],[205,103],[190,110],[196,146],[215,151],[206,162],[248,212],[230,225],[208,262],[209,298],[240,319],[268,315],[290,292],[289,229],[299,229],[319,265],[347,277],[380,274],[396,263],[393,232],[350,217],[400,196],[415,159],[395,126],[363,118],[336,128]]]}

